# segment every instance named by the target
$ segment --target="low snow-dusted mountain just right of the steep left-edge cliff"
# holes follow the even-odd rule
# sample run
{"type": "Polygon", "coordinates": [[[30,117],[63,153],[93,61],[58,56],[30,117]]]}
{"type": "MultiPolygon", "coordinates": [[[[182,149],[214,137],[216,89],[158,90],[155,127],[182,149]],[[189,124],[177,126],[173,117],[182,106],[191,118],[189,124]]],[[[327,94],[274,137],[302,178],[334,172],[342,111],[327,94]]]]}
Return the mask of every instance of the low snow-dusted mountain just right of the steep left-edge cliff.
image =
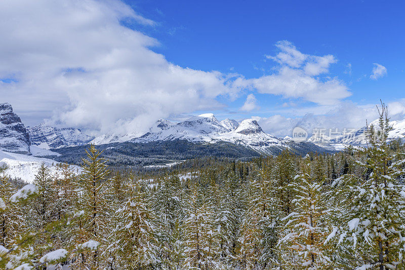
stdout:
{"type": "Polygon", "coordinates": [[[43,149],[57,149],[89,143],[94,137],[76,128],[56,128],[45,123],[27,128],[32,145],[43,149]]]}

